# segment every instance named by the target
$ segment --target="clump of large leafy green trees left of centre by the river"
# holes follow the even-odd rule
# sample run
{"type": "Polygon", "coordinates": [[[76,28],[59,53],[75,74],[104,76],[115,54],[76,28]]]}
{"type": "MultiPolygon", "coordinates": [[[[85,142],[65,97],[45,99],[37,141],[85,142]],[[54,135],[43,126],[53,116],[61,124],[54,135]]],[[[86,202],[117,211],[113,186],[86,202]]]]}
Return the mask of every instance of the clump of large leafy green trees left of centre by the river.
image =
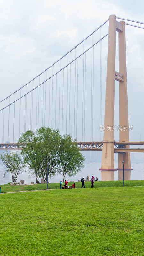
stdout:
{"type": "Polygon", "coordinates": [[[73,176],[84,167],[85,157],[77,148],[76,140],[72,140],[70,135],[61,137],[59,130],[49,127],[41,127],[36,132],[28,130],[21,135],[18,143],[26,144],[22,155],[35,174],[37,183],[40,178],[47,180],[48,162],[50,178],[62,173],[64,179],[66,174],[73,176]]]}

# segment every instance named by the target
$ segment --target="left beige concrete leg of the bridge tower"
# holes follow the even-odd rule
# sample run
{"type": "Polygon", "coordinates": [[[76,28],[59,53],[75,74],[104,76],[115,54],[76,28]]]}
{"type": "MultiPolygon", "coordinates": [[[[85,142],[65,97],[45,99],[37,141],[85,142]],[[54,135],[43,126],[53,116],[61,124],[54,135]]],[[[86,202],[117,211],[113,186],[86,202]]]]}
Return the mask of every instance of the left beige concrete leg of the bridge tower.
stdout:
{"type": "MultiPolygon", "coordinates": [[[[114,100],[115,100],[115,56],[116,56],[116,18],[109,16],[108,60],[105,99],[105,121],[101,169],[114,170],[114,100]],[[108,130],[109,127],[109,130],[108,130]]],[[[99,169],[99,170],[101,170],[99,169]]]]}

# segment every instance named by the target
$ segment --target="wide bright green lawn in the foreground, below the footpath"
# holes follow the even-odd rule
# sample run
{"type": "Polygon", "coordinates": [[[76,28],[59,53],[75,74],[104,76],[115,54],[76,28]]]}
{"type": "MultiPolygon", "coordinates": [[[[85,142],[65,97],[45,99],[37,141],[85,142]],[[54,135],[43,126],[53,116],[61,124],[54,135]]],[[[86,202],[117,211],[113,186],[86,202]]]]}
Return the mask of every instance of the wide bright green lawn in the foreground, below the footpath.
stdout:
{"type": "Polygon", "coordinates": [[[143,191],[99,187],[1,194],[0,255],[142,256],[143,191]]]}

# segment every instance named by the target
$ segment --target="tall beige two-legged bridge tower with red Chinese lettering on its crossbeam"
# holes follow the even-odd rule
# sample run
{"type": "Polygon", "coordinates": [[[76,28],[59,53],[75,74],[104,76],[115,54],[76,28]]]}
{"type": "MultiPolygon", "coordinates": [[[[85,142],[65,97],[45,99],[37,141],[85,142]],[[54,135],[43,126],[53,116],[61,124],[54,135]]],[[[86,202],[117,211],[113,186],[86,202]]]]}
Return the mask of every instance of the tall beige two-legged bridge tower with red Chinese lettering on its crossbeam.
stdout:
{"type": "MultiPolygon", "coordinates": [[[[115,80],[119,81],[119,126],[128,127],[128,100],[127,100],[127,71],[126,71],[126,44],[125,44],[125,23],[118,22],[115,15],[109,16],[108,30],[108,60],[107,60],[107,80],[105,99],[105,119],[104,137],[101,169],[114,169],[114,100],[115,100],[115,80]],[[119,72],[115,71],[116,56],[116,31],[119,33],[119,72]]],[[[129,131],[119,131],[119,141],[129,141],[129,131]]],[[[129,148],[129,145],[126,146],[129,148]]],[[[118,169],[131,169],[130,153],[118,154],[118,169]]]]}

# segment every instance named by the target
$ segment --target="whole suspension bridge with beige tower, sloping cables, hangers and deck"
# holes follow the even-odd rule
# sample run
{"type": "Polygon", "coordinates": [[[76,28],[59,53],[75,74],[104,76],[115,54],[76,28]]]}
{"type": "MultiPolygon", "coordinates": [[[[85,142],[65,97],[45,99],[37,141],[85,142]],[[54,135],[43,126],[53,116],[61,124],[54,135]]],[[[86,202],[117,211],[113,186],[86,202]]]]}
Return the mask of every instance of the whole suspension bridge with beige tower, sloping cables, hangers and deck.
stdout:
{"type": "Polygon", "coordinates": [[[122,168],[124,160],[125,169],[132,170],[130,152],[144,152],[144,149],[130,148],[130,145],[144,145],[144,142],[129,141],[131,127],[128,123],[125,25],[143,29],[140,24],[144,25],[143,22],[110,15],[108,20],[59,60],[1,100],[0,150],[21,150],[23,145],[15,141],[23,132],[28,129],[35,131],[40,127],[51,127],[59,129],[61,134],[70,134],[82,141],[77,142],[82,151],[102,151],[100,170],[116,170],[114,153],[119,156],[119,169],[122,168]],[[116,31],[119,35],[119,72],[115,70],[116,31]],[[103,44],[107,43],[106,63],[106,58],[103,58],[103,44]],[[102,67],[106,64],[103,126],[102,67]],[[114,140],[115,80],[119,81],[118,142],[114,140]],[[101,126],[104,131],[103,140],[101,126]],[[97,134],[100,141],[94,142],[97,134]]]}

